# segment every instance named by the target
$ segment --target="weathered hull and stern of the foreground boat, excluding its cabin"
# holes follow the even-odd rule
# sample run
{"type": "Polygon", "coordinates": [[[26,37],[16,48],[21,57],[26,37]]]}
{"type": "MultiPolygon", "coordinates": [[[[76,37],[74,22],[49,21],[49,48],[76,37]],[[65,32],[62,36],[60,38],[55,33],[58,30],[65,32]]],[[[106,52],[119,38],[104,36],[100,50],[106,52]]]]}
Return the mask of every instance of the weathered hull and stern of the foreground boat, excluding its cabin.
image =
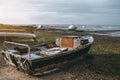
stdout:
{"type": "MultiPolygon", "coordinates": [[[[37,75],[37,73],[46,74],[61,70],[85,58],[90,47],[92,46],[93,41],[94,39],[92,37],[89,37],[88,41],[86,42],[86,37],[85,37],[84,44],[82,43],[82,46],[72,49],[65,48],[65,49],[70,49],[66,51],[61,51],[60,50],[61,47],[59,47],[60,50],[59,53],[54,55],[46,55],[46,56],[43,56],[42,54],[42,47],[44,48],[48,47],[48,45],[50,45],[51,43],[30,47],[27,44],[19,44],[19,43],[6,41],[4,42],[4,45],[5,43],[9,43],[19,46],[25,46],[27,48],[23,48],[23,49],[14,48],[9,50],[3,50],[2,55],[6,63],[15,66],[17,70],[24,71],[29,75],[31,74],[37,75]],[[25,54],[26,50],[28,50],[27,54],[25,54]],[[35,53],[36,51],[38,51],[38,53],[35,53]]],[[[56,46],[52,48],[49,47],[46,52],[49,52],[49,50],[53,48],[57,48],[57,47],[56,46]]],[[[59,50],[57,49],[57,51],[59,50]]],[[[51,53],[49,52],[49,54],[51,53]]]]}

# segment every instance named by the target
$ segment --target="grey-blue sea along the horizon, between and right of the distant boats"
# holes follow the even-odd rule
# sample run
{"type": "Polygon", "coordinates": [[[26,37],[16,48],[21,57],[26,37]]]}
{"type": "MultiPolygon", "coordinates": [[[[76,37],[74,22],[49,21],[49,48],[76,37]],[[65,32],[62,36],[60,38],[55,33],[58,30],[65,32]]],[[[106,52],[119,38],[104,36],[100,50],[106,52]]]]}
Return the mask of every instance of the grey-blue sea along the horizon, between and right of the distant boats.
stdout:
{"type": "MultiPolygon", "coordinates": [[[[69,25],[51,25],[57,29],[67,30],[69,25]]],[[[79,31],[91,31],[90,34],[101,35],[101,36],[111,36],[111,37],[120,37],[120,25],[75,25],[79,31]]]]}

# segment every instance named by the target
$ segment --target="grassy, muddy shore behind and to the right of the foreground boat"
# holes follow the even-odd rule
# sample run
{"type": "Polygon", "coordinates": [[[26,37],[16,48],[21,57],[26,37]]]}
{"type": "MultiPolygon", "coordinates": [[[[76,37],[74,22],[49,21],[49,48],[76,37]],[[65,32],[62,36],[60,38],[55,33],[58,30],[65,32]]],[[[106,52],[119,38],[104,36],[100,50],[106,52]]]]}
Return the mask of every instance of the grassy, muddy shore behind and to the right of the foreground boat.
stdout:
{"type": "MultiPolygon", "coordinates": [[[[54,41],[62,35],[87,35],[90,32],[46,32],[32,31],[43,42],[54,41]]],[[[66,69],[74,75],[71,80],[119,80],[120,79],[120,37],[108,37],[92,35],[95,39],[92,48],[88,53],[88,57],[79,62],[77,65],[66,69]]],[[[3,59],[0,54],[0,68],[4,66],[3,59]]],[[[38,77],[40,78],[40,77],[38,77]]]]}

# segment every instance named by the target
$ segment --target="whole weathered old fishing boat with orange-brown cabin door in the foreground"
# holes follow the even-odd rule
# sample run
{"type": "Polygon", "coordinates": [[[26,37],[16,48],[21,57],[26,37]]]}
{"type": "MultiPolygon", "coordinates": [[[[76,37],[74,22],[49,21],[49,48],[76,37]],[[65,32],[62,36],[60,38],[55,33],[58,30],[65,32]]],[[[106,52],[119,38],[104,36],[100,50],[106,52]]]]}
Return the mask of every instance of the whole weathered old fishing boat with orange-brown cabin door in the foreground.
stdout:
{"type": "Polygon", "coordinates": [[[1,52],[5,62],[17,70],[29,75],[43,75],[62,70],[83,59],[93,41],[92,36],[62,36],[56,42],[33,46],[4,41],[5,48],[1,52]],[[7,44],[15,47],[8,47],[7,44]]]}

